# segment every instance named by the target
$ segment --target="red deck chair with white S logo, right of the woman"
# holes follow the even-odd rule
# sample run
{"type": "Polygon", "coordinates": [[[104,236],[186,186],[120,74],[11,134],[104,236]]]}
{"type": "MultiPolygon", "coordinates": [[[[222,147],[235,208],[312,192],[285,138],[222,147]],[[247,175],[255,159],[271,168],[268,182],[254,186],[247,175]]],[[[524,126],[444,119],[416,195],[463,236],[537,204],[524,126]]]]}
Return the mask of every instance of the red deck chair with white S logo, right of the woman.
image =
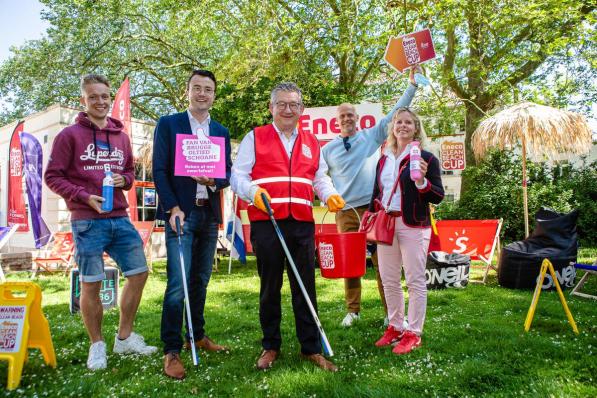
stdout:
{"type": "Polygon", "coordinates": [[[499,256],[502,221],[501,218],[499,220],[439,220],[436,226],[441,250],[447,253],[466,254],[471,257],[471,260],[481,260],[485,263],[485,272],[481,281],[485,284],[489,269],[497,271],[492,260],[496,250],[499,256]]]}

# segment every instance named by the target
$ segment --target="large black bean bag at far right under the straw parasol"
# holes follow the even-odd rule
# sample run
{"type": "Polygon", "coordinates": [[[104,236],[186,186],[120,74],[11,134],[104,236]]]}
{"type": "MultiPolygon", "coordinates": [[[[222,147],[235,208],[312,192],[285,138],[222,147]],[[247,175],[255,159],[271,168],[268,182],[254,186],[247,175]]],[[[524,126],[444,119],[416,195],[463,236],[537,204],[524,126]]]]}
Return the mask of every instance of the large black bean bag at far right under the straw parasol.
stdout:
{"type": "MultiPolygon", "coordinates": [[[[512,289],[534,289],[544,259],[549,259],[562,289],[574,286],[578,211],[568,214],[542,208],[535,215],[535,229],[525,240],[502,249],[498,267],[498,283],[512,289]]],[[[542,289],[555,289],[548,272],[542,289]]]]}

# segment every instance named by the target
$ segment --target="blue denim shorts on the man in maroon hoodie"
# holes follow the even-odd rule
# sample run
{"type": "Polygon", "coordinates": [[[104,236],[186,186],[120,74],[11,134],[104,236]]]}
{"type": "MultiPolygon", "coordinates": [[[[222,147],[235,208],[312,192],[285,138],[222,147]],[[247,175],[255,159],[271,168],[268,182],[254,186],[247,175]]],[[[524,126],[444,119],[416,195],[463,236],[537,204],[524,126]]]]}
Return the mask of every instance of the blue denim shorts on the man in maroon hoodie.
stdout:
{"type": "Polygon", "coordinates": [[[124,276],[147,272],[143,241],[128,217],[75,220],[71,226],[82,282],[105,278],[104,252],[114,259],[124,276]]]}

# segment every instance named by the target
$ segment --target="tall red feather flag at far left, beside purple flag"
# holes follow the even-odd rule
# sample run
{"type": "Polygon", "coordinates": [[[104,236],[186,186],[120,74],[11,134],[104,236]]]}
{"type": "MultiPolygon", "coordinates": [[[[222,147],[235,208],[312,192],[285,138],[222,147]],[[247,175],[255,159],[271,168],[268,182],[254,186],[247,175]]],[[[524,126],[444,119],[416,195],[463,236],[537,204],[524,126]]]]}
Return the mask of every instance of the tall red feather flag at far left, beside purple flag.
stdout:
{"type": "Polygon", "coordinates": [[[19,224],[17,231],[29,231],[29,220],[23,196],[23,152],[21,150],[21,138],[19,134],[23,131],[25,122],[17,124],[10,139],[10,150],[8,153],[8,225],[19,224]]]}

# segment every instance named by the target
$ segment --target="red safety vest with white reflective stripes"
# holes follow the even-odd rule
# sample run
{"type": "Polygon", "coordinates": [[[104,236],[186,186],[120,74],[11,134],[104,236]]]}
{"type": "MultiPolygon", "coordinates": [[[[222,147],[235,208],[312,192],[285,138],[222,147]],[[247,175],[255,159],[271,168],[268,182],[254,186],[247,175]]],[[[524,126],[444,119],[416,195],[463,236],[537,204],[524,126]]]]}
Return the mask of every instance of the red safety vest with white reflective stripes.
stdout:
{"type": "MultiPolygon", "coordinates": [[[[283,220],[313,222],[313,179],[319,168],[319,143],[314,135],[299,130],[289,160],[286,149],[273,125],[257,127],[255,165],[251,171],[253,184],[272,197],[274,217],[283,220]]],[[[269,216],[250,205],[249,220],[269,220],[269,216]]]]}

